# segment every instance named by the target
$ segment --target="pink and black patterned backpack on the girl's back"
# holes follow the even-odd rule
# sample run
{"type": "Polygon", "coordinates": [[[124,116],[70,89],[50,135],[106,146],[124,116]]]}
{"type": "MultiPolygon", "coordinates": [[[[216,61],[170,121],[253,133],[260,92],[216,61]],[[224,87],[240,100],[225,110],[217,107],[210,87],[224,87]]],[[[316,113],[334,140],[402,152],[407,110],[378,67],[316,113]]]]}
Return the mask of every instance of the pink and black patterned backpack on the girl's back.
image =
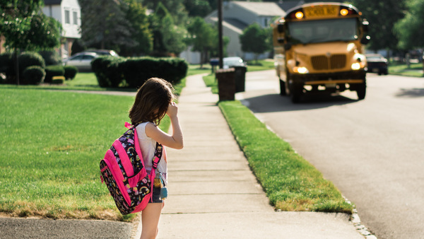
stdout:
{"type": "Polygon", "coordinates": [[[100,161],[100,178],[105,182],[122,215],[142,211],[151,200],[155,170],[163,153],[156,143],[153,168],[148,175],[141,156],[136,126],[125,123],[128,130],[114,141],[100,161]]]}

